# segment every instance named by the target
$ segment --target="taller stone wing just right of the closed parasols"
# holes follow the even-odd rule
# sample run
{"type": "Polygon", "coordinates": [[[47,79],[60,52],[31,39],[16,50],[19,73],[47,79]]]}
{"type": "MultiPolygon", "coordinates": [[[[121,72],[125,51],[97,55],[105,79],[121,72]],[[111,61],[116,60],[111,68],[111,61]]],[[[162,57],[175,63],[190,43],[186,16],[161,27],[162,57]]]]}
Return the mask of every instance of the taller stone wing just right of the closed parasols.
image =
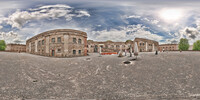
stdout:
{"type": "Polygon", "coordinates": [[[135,38],[135,42],[137,42],[139,52],[154,52],[159,47],[159,43],[154,40],[135,38]]]}

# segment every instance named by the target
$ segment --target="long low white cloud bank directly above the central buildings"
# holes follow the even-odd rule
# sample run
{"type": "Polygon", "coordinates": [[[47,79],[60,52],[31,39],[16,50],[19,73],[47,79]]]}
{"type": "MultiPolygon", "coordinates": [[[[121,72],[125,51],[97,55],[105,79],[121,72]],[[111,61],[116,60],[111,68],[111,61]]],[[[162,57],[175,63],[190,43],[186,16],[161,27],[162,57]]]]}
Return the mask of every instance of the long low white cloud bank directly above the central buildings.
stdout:
{"type": "Polygon", "coordinates": [[[129,25],[127,27],[121,28],[121,30],[111,29],[111,30],[103,30],[103,31],[92,31],[93,39],[105,41],[105,40],[113,40],[113,41],[126,41],[128,39],[133,40],[135,37],[139,38],[147,38],[155,41],[160,41],[163,39],[162,36],[157,34],[152,34],[148,29],[141,24],[138,25],[129,25]]]}

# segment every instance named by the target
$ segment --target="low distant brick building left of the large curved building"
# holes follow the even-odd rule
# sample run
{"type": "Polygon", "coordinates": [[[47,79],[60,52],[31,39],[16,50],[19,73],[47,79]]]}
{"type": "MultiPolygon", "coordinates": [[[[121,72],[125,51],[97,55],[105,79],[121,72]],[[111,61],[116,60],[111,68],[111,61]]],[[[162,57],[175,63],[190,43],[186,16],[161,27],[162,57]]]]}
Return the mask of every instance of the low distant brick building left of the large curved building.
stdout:
{"type": "Polygon", "coordinates": [[[9,52],[26,52],[26,45],[23,44],[7,44],[6,51],[9,52]]]}

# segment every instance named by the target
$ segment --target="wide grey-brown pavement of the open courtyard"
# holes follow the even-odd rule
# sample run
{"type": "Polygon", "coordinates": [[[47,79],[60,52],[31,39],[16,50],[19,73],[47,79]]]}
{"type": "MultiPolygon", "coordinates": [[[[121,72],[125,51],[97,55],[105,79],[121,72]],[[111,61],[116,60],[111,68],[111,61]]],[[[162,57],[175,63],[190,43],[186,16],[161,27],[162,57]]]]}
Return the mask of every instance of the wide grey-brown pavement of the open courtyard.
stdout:
{"type": "Polygon", "coordinates": [[[200,52],[51,58],[0,52],[0,100],[196,100],[200,52]]]}

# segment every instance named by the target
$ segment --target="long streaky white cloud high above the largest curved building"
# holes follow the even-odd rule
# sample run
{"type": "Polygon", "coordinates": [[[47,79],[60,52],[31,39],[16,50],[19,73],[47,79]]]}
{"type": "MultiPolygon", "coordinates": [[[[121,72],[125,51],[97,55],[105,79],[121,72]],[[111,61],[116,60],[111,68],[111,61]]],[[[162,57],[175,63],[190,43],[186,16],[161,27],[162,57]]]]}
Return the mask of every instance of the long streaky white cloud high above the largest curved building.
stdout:
{"type": "Polygon", "coordinates": [[[90,14],[84,10],[74,10],[68,5],[46,5],[27,11],[17,10],[4,21],[12,27],[21,28],[24,24],[32,20],[40,19],[58,19],[64,17],[71,20],[73,17],[90,17],[90,14]]]}

